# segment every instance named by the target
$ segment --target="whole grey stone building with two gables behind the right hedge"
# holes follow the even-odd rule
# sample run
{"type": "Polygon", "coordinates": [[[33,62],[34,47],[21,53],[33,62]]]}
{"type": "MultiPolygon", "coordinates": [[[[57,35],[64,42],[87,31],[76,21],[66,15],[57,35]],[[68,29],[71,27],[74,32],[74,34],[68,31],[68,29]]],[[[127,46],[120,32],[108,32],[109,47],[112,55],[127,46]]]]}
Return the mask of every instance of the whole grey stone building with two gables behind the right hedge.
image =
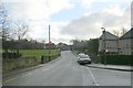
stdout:
{"type": "Polygon", "coordinates": [[[121,37],[103,31],[99,38],[99,52],[104,51],[108,54],[133,55],[133,28],[121,37]]]}

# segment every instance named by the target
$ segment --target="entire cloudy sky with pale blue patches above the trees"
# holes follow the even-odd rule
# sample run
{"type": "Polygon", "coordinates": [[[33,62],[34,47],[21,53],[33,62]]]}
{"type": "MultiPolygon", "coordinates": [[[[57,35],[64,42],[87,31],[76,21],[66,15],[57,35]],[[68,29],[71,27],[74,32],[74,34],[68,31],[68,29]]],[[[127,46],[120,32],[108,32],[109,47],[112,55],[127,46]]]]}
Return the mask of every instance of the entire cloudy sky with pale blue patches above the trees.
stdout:
{"type": "Polygon", "coordinates": [[[70,44],[70,40],[100,37],[106,31],[131,29],[132,0],[1,0],[13,20],[24,20],[27,38],[70,44]]]}

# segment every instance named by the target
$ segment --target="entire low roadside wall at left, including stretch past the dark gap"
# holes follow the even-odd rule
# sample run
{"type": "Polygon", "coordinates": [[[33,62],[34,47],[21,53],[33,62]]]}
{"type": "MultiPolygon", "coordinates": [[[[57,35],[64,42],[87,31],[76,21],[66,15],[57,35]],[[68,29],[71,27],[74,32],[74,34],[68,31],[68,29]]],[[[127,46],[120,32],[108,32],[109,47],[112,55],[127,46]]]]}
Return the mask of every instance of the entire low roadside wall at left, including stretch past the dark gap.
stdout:
{"type": "Polygon", "coordinates": [[[59,57],[59,55],[42,56],[41,59],[37,59],[35,57],[22,57],[22,58],[11,58],[11,59],[2,59],[2,73],[7,73],[17,68],[31,67],[39,64],[48,63],[52,59],[59,57]]]}

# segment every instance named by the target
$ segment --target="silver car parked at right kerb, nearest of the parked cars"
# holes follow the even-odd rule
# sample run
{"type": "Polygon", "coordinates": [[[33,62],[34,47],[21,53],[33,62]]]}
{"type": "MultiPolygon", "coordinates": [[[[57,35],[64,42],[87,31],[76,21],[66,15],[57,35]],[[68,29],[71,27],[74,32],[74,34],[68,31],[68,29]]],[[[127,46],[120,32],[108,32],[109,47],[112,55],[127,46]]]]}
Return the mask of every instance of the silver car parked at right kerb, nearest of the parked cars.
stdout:
{"type": "Polygon", "coordinates": [[[81,65],[91,64],[91,58],[90,58],[89,55],[79,54],[78,55],[78,63],[81,64],[81,65]]]}

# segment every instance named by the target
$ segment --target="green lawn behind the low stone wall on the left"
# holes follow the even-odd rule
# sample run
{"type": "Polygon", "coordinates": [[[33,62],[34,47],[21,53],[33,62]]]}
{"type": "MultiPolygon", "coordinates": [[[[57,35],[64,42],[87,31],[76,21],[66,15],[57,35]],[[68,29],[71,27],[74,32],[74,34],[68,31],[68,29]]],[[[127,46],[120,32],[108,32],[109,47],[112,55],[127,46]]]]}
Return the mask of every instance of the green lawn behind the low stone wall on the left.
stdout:
{"type": "MultiPolygon", "coordinates": [[[[21,50],[20,53],[22,57],[34,56],[37,58],[41,58],[41,56],[49,56],[49,50],[21,50]]],[[[57,55],[60,52],[58,50],[51,50],[50,55],[57,55]]]]}

